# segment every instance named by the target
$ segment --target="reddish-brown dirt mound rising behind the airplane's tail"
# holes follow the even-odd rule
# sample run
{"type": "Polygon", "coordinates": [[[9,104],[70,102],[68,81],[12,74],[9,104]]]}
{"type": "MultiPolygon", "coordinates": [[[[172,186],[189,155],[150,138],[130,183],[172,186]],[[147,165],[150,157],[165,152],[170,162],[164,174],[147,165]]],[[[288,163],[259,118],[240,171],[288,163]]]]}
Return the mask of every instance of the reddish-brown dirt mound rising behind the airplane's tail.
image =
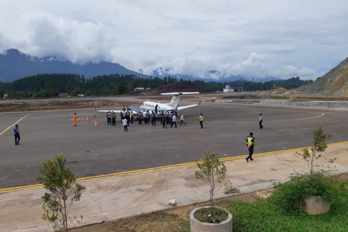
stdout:
{"type": "Polygon", "coordinates": [[[175,82],[170,85],[159,86],[153,93],[171,93],[171,92],[200,92],[207,93],[209,90],[201,89],[189,81],[175,82]]]}

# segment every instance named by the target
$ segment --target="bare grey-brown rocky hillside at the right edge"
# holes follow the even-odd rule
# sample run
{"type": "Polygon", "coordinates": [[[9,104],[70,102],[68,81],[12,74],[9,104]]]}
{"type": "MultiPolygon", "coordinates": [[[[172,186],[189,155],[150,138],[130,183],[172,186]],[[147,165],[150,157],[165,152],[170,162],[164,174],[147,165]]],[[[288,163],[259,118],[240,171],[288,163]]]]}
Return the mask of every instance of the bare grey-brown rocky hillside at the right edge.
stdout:
{"type": "Polygon", "coordinates": [[[348,57],[328,73],[308,85],[298,88],[303,94],[348,96],[348,57]]]}

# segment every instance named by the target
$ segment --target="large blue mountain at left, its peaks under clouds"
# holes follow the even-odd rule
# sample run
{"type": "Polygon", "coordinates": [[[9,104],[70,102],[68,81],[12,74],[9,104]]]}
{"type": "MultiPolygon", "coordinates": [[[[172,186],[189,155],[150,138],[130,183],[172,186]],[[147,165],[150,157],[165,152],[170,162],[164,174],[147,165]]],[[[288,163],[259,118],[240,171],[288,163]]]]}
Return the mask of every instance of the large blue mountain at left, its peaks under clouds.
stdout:
{"type": "Polygon", "coordinates": [[[70,61],[58,61],[54,57],[39,58],[30,56],[17,49],[8,49],[5,55],[0,54],[0,81],[14,81],[40,73],[76,73],[83,74],[85,77],[119,73],[149,77],[148,75],[128,70],[120,64],[105,61],[80,65],[70,61]]]}

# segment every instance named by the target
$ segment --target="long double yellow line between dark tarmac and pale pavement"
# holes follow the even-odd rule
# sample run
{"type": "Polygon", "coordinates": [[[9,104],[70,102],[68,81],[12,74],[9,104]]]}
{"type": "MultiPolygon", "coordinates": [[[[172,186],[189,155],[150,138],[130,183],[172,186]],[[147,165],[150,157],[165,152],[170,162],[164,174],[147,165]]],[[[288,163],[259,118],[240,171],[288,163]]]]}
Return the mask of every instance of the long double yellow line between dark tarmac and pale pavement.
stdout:
{"type": "MultiPolygon", "coordinates": [[[[348,141],[330,143],[330,144],[327,144],[327,146],[337,146],[337,145],[343,145],[343,144],[348,144],[348,141]]],[[[287,153],[287,152],[297,152],[297,151],[301,151],[304,148],[310,149],[311,147],[308,146],[308,147],[299,147],[299,148],[280,150],[280,151],[263,152],[263,153],[253,154],[253,157],[262,157],[262,156],[282,154],[282,153],[287,153]]],[[[238,156],[233,156],[233,157],[220,158],[220,161],[231,161],[231,160],[244,159],[247,156],[248,155],[238,155],[238,156]]],[[[197,164],[196,161],[188,162],[188,163],[179,163],[179,164],[175,164],[175,165],[160,166],[160,167],[155,167],[155,168],[146,168],[146,169],[139,169],[139,170],[132,170],[132,171],[124,171],[124,172],[120,172],[120,173],[111,173],[111,174],[98,175],[98,176],[82,177],[82,178],[77,178],[76,181],[77,182],[92,181],[95,179],[102,179],[102,178],[108,178],[108,177],[114,177],[114,176],[125,176],[125,175],[137,174],[137,173],[145,173],[148,171],[159,171],[159,170],[165,170],[165,169],[171,169],[171,168],[177,168],[177,167],[192,166],[192,165],[196,165],[196,164],[197,164]]],[[[40,188],[40,187],[42,187],[41,184],[10,187],[10,188],[6,188],[6,189],[0,189],[0,193],[7,193],[7,192],[26,190],[26,189],[35,189],[35,188],[40,188]]]]}

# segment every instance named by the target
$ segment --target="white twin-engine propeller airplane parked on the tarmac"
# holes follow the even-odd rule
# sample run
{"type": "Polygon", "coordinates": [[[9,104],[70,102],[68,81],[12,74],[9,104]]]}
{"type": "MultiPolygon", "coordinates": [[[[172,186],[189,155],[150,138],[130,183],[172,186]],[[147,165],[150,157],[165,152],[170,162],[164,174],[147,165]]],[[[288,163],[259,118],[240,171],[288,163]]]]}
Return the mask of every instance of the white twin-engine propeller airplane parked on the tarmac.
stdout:
{"type": "MultiPolygon", "coordinates": [[[[182,109],[186,109],[192,106],[197,106],[200,105],[200,102],[198,104],[194,104],[194,105],[184,105],[184,106],[179,106],[179,102],[180,102],[180,97],[183,94],[199,94],[199,92],[177,92],[177,93],[164,93],[161,95],[173,95],[173,98],[171,100],[170,103],[156,103],[156,102],[150,102],[149,100],[146,102],[143,102],[143,104],[141,104],[140,106],[140,110],[141,111],[153,111],[156,114],[160,114],[160,113],[166,113],[167,111],[176,111],[176,110],[182,110],[182,109]]],[[[134,115],[137,115],[140,110],[134,108],[134,107],[128,107],[128,110],[132,111],[132,113],[134,115]]],[[[123,110],[96,110],[99,112],[115,112],[115,113],[120,113],[123,112],[123,110]]]]}

